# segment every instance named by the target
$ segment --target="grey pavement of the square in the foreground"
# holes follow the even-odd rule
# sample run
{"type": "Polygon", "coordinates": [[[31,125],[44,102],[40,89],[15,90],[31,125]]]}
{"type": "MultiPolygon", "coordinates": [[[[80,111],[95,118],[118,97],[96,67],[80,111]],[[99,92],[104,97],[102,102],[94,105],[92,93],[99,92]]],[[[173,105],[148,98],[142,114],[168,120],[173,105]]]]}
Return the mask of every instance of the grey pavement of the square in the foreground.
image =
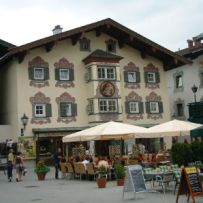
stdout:
{"type": "MultiPolygon", "coordinates": [[[[14,174],[15,176],[15,174],[14,174]]],[[[47,174],[45,181],[38,181],[34,169],[28,169],[28,175],[22,182],[8,182],[6,176],[0,171],[0,203],[175,203],[176,195],[173,187],[163,194],[162,192],[125,193],[122,200],[122,186],[116,186],[115,181],[108,181],[107,187],[99,189],[95,181],[54,179],[54,169],[47,174]]],[[[150,185],[147,184],[150,189],[150,185]]],[[[203,197],[195,197],[196,203],[202,203],[203,197]]],[[[179,203],[186,203],[187,197],[181,195],[179,203]]],[[[192,202],[191,199],[189,201],[192,202]]]]}

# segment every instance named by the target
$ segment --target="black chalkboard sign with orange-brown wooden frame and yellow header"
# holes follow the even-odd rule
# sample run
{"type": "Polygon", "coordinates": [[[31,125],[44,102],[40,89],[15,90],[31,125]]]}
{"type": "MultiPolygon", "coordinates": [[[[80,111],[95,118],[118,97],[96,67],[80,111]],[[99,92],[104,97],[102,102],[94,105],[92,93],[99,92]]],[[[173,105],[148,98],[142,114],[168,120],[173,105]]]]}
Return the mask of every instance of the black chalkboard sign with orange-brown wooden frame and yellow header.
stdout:
{"type": "Polygon", "coordinates": [[[188,200],[191,196],[193,203],[195,203],[194,196],[203,195],[203,188],[196,167],[183,168],[176,203],[178,203],[178,197],[181,194],[188,194],[188,200]]]}

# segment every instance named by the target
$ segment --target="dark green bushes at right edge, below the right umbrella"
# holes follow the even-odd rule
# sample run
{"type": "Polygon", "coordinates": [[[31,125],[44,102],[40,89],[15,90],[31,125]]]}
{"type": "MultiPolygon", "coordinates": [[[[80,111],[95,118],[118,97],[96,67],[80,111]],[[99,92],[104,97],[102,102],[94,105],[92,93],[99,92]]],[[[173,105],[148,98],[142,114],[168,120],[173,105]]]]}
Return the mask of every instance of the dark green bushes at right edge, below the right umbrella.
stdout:
{"type": "Polygon", "coordinates": [[[174,164],[187,166],[190,162],[203,162],[203,142],[195,141],[191,144],[176,143],[172,146],[171,156],[174,164]]]}

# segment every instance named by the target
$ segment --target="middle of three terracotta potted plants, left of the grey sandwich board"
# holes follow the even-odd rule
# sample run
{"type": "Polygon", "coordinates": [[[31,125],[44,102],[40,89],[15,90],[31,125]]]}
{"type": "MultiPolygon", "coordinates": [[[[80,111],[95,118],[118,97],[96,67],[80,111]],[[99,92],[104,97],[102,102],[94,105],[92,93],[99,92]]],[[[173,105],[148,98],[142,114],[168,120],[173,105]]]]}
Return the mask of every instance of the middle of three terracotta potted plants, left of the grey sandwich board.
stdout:
{"type": "Polygon", "coordinates": [[[108,172],[108,162],[107,161],[99,161],[98,163],[98,178],[97,185],[99,188],[105,188],[107,182],[107,172],[108,172]]]}

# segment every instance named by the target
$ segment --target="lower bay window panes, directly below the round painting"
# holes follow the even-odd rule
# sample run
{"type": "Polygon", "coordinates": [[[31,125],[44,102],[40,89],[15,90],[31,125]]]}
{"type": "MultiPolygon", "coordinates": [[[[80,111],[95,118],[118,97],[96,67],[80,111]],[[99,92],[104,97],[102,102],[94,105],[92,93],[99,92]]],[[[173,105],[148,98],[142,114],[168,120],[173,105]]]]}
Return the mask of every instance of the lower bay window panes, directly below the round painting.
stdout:
{"type": "Polygon", "coordinates": [[[99,111],[101,113],[117,112],[117,100],[116,99],[100,99],[99,111]]]}

